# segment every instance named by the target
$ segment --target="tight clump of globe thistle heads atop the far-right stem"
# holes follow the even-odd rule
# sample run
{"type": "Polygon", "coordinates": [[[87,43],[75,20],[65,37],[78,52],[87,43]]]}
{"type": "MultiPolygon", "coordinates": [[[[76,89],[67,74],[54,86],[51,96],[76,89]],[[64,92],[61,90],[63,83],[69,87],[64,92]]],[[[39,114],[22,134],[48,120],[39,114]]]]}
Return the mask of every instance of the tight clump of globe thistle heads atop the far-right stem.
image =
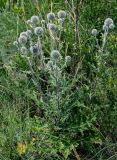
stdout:
{"type": "Polygon", "coordinates": [[[113,29],[114,27],[114,21],[111,18],[106,18],[104,21],[103,30],[113,29]]]}

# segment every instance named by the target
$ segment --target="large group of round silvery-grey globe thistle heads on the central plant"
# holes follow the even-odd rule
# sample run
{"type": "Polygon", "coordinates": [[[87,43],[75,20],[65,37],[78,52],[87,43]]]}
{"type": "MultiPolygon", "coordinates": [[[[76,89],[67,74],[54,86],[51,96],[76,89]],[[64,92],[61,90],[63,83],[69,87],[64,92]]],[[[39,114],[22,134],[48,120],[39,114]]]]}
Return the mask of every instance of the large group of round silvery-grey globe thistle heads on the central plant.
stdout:
{"type": "MultiPolygon", "coordinates": [[[[67,13],[63,10],[60,10],[57,13],[57,15],[58,15],[57,20],[59,22],[59,25],[63,24],[67,13]]],[[[47,28],[50,31],[51,38],[56,36],[56,31],[59,26],[57,23],[53,22],[54,20],[56,20],[55,18],[56,16],[55,16],[55,13],[53,12],[50,12],[47,14],[47,21],[44,19],[40,19],[39,16],[33,15],[29,20],[26,21],[28,29],[20,33],[19,38],[17,39],[16,42],[14,42],[14,45],[19,47],[19,50],[21,51],[21,53],[25,54],[26,52],[27,53],[29,52],[29,53],[32,53],[32,55],[39,55],[40,53],[42,53],[40,55],[43,55],[40,38],[42,37],[45,29],[47,28]]],[[[54,39],[53,44],[52,44],[52,52],[50,55],[50,60],[53,63],[58,63],[62,59],[62,56],[58,50],[54,50],[55,43],[56,42],[54,39]]],[[[70,57],[66,57],[65,61],[66,61],[65,63],[70,61],[70,57]]],[[[49,63],[48,65],[50,66],[49,63]]]]}

